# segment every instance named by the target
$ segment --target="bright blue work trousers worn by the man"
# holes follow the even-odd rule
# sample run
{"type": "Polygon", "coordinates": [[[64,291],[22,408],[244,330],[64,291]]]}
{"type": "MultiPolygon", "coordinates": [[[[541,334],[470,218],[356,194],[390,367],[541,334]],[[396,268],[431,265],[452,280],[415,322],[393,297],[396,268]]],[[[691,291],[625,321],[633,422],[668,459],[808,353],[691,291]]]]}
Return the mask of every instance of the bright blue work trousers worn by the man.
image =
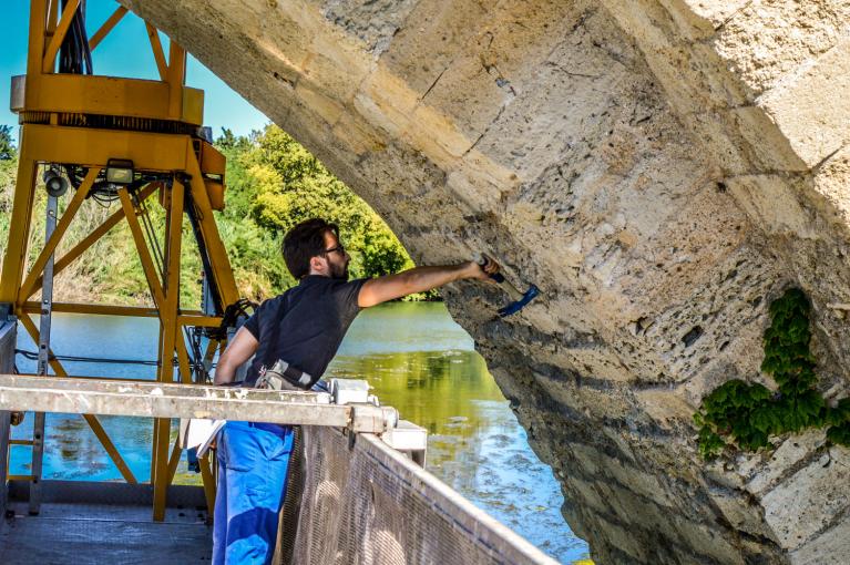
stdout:
{"type": "Polygon", "coordinates": [[[293,429],[227,422],[217,442],[213,565],[268,564],[286,495],[293,429]]]}

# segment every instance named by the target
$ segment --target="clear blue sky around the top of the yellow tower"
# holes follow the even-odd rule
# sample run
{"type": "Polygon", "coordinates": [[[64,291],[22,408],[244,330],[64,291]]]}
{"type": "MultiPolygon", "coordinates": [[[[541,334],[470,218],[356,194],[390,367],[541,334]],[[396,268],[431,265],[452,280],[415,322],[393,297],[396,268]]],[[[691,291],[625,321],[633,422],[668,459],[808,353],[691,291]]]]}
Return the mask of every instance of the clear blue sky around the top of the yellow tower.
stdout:
{"type": "MultiPolygon", "coordinates": [[[[6,2],[4,2],[6,3],[6,2]]],[[[11,78],[27,72],[27,32],[30,0],[11,0],[3,12],[0,35],[0,124],[16,125],[18,116],[9,111],[11,78]]],[[[114,0],[88,0],[86,28],[91,37],[119,7],[114,0]]],[[[167,53],[167,39],[163,47],[167,53]]],[[[157,79],[156,64],[147,42],[144,22],[127,13],[92,53],[94,72],[110,76],[157,79]]],[[[204,125],[214,135],[222,127],[246,135],[259,130],[268,119],[190,55],[186,84],[204,91],[204,125]]]]}

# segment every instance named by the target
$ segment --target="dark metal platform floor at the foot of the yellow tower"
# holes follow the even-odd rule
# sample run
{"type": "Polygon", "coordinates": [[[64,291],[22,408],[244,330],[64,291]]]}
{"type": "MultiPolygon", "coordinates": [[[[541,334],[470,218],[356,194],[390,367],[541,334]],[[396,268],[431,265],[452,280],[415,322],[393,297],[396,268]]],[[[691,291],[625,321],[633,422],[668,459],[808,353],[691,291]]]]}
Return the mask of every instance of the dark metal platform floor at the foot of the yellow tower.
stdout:
{"type": "Polygon", "coordinates": [[[10,484],[0,563],[209,563],[212,528],[201,487],[172,486],[165,520],[153,522],[150,485],[43,481],[42,486],[41,512],[30,516],[28,484],[10,484]]]}

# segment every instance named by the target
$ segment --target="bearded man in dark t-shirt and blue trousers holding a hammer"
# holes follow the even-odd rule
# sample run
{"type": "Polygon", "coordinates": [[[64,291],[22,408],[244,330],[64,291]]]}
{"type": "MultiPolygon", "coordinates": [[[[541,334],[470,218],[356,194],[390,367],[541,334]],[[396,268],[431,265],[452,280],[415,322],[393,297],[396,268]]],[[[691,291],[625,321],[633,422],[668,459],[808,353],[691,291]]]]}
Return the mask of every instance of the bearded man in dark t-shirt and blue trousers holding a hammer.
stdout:
{"type": "MultiPolygon", "coordinates": [[[[339,230],[308,219],[284,238],[284,260],[298,286],[263,302],[236,332],[218,360],[215,383],[233,381],[252,356],[246,384],[277,360],[318,381],[348,327],[362,308],[464,278],[490,280],[499,266],[474,261],[417,267],[375,279],[348,281],[350,257],[339,230]]],[[[213,563],[269,563],[284,502],[293,429],[287,425],[227,422],[218,436],[218,494],[215,503],[213,563]]]]}

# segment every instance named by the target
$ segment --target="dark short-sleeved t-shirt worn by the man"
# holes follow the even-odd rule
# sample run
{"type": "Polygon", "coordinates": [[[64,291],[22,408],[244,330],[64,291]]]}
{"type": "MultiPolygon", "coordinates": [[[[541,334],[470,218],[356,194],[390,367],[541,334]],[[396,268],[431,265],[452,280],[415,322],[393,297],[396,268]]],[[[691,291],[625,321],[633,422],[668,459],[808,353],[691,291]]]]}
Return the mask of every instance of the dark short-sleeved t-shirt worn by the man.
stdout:
{"type": "Polygon", "coordinates": [[[357,297],[367,280],[308,275],[263,302],[244,326],[259,341],[246,383],[256,382],[260,368],[278,359],[314,379],[321,377],[360,311],[357,297]]]}

